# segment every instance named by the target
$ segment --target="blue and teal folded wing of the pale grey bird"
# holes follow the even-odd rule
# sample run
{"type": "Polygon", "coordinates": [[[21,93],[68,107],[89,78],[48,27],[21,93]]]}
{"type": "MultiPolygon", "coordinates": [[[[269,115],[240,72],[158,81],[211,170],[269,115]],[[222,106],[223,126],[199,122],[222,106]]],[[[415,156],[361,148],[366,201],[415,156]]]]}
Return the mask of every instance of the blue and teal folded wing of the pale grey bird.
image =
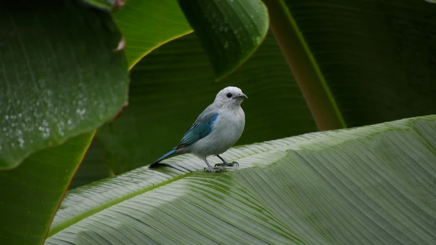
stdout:
{"type": "Polygon", "coordinates": [[[176,148],[180,148],[189,144],[196,142],[197,140],[205,137],[206,135],[212,132],[214,127],[214,123],[218,118],[218,113],[207,113],[200,115],[195,124],[193,124],[183,135],[180,140],[180,143],[176,146],[176,148]]]}

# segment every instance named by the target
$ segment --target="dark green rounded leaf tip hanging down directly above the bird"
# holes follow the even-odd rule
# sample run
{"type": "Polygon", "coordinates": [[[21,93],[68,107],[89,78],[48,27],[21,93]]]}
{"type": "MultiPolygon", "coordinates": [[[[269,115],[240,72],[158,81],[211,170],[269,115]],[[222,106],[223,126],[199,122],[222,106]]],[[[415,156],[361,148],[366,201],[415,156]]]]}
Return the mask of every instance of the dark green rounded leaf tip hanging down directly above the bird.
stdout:
{"type": "Polygon", "coordinates": [[[201,41],[216,80],[241,66],[268,32],[268,11],[261,0],[178,0],[201,41]]]}

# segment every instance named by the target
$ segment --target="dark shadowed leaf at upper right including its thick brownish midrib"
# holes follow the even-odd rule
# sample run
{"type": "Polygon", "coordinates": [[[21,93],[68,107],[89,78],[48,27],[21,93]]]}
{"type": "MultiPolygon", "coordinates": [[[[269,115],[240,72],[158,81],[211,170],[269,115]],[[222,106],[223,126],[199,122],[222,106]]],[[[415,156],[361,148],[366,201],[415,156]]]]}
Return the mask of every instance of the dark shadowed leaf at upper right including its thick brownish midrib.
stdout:
{"type": "Polygon", "coordinates": [[[321,130],[436,113],[436,5],[263,2],[321,130]]]}

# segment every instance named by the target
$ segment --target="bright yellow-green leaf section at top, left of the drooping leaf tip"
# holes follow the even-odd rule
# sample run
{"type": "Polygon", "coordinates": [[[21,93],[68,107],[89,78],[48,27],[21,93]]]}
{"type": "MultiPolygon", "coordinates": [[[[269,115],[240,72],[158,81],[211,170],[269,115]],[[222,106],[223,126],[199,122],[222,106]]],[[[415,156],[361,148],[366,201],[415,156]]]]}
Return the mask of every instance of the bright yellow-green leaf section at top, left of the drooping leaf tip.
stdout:
{"type": "Polygon", "coordinates": [[[129,69],[156,47],[192,32],[176,0],[129,0],[112,16],[126,38],[129,69]]]}

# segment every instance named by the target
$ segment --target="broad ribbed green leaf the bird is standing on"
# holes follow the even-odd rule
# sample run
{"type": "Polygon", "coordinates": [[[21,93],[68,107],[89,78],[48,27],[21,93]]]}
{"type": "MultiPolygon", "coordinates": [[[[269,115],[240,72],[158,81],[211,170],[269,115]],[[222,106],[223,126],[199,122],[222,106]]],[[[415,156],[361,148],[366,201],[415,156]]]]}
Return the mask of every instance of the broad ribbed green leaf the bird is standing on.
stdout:
{"type": "Polygon", "coordinates": [[[434,244],[435,135],[436,115],[306,134],[218,174],[175,157],[68,191],[45,243],[434,244]]]}

